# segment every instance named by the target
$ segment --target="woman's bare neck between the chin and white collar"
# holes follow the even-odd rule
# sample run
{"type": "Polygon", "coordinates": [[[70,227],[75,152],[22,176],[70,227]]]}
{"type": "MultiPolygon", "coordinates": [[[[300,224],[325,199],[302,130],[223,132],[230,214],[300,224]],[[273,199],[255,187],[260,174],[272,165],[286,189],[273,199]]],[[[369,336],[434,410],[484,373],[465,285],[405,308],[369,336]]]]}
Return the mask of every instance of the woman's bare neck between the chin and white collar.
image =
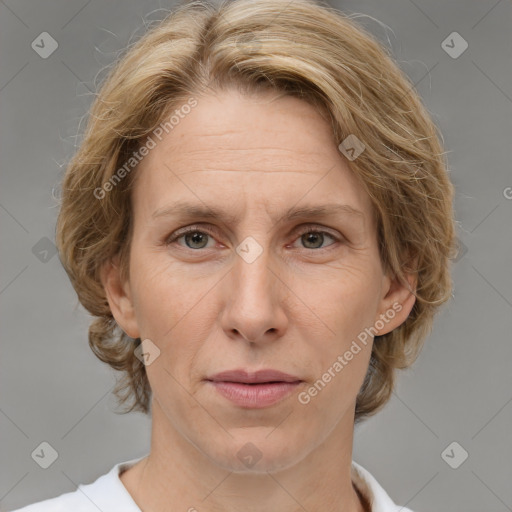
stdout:
{"type": "Polygon", "coordinates": [[[232,472],[177,432],[153,401],[150,455],[121,475],[141,510],[303,512],[369,510],[351,481],[353,416],[297,464],[273,472],[232,472]]]}

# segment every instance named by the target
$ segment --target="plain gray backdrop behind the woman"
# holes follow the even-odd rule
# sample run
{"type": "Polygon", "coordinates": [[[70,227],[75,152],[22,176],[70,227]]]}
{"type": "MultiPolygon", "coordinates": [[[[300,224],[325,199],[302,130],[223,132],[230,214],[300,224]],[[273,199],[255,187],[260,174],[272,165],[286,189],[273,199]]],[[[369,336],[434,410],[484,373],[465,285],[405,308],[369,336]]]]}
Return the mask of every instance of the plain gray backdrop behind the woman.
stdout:
{"type": "MultiPolygon", "coordinates": [[[[392,49],[443,131],[463,243],[452,300],[391,402],[357,427],[354,460],[415,512],[512,510],[511,2],[331,4],[366,15],[360,22],[392,49]],[[441,46],[454,31],[469,45],[458,58],[441,46]],[[441,456],[453,441],[452,464],[469,454],[458,469],[441,456]]],[[[52,194],[100,70],[171,6],[0,1],[4,511],[73,491],[149,449],[149,418],[114,412],[114,374],[88,347],[89,316],[49,240],[52,194]],[[31,43],[45,31],[59,46],[43,59],[31,43]],[[58,452],[48,469],[31,457],[43,441],[58,452]]]]}

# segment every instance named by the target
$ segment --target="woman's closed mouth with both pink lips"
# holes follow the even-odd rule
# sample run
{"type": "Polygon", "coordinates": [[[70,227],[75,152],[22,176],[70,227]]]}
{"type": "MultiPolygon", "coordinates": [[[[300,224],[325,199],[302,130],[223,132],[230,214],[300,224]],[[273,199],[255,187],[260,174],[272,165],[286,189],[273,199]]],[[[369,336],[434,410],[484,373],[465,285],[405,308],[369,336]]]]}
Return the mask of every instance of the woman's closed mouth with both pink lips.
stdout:
{"type": "Polygon", "coordinates": [[[233,404],[246,409],[270,407],[290,395],[303,381],[278,370],[229,370],[206,379],[233,404]]]}

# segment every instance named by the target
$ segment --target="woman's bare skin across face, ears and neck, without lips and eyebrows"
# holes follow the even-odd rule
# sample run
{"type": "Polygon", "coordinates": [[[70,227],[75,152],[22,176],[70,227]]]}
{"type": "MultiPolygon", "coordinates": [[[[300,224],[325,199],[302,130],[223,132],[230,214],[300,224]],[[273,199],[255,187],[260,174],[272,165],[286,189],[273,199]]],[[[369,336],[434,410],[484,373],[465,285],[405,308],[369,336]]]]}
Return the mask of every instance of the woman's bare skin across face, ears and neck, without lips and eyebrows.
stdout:
{"type": "Polygon", "coordinates": [[[379,334],[403,323],[415,298],[384,273],[369,196],[315,108],[275,93],[197,98],[136,171],[129,278],[115,260],[102,273],[121,328],[160,350],[146,367],[150,454],[121,481],[144,511],[363,512],[350,465],[372,339],[310,403],[298,394],[394,303],[402,309],[379,334]],[[152,217],[178,200],[236,221],[152,217]],[[361,215],[284,218],[326,203],[361,215]],[[202,238],[165,244],[186,226],[202,238]],[[308,237],[311,226],[323,238],[308,237]],[[263,250],[252,263],[236,252],[249,236],[263,250]],[[247,409],[204,380],[236,368],[303,382],[277,404],[247,409]],[[250,468],[237,456],[247,443],[261,455],[250,468]]]}

